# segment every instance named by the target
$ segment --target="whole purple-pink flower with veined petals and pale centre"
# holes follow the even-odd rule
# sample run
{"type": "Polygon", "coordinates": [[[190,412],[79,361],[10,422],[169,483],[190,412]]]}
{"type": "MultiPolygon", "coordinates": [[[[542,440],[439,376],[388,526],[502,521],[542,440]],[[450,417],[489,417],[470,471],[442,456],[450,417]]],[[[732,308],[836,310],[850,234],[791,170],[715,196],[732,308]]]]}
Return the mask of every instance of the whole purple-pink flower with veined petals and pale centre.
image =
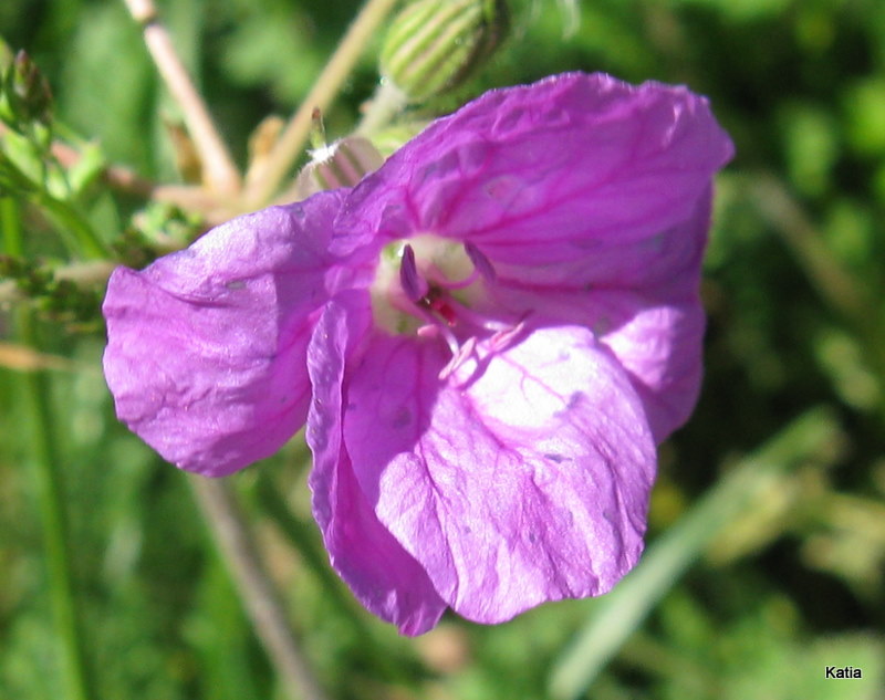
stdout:
{"type": "Polygon", "coordinates": [[[105,301],[122,420],[223,476],[306,420],[332,565],[409,635],[608,591],[697,399],[711,179],[681,87],[487,93],[352,190],[240,217],[105,301]]]}

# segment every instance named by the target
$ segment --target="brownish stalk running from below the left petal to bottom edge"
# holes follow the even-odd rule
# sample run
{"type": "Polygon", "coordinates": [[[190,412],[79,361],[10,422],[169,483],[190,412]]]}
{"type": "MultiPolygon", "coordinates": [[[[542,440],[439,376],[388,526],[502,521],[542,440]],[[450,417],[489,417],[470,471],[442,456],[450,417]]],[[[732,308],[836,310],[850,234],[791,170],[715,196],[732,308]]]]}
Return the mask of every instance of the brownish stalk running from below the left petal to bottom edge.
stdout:
{"type": "Polygon", "coordinates": [[[197,502],[212,529],[252,626],[283,682],[288,697],[323,700],[324,694],[287,624],[287,612],[227,482],[191,477],[197,502]]]}

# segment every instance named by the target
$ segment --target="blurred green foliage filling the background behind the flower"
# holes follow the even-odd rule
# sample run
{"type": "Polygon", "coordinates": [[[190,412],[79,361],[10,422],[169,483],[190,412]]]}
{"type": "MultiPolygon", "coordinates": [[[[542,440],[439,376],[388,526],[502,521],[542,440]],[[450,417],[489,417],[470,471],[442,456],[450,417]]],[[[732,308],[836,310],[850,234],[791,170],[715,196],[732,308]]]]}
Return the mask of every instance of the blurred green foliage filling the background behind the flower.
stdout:
{"type": "MultiPolygon", "coordinates": [[[[298,106],[360,3],[159,4],[244,165],[252,129],[298,106]]],[[[569,70],[680,82],[710,96],[737,144],[718,181],[706,260],[707,382],[690,424],[662,448],[649,554],[666,533],[683,532],[678,523],[702,514],[702,495],[760,446],[788,436],[791,453],[805,455],[760,481],[711,544],[681,542],[686,571],[642,593],[659,603],[625,630],[586,697],[883,698],[885,3],[512,6],[511,39],[458,98],[569,70]],[[823,446],[784,432],[815,407],[829,416],[823,446]],[[862,668],[864,678],[825,680],[829,665],[862,668]]],[[[145,178],[178,177],[165,122],[180,114],[122,2],[4,0],[0,34],[43,72],[69,143],[91,144],[100,161],[145,178]]],[[[372,94],[377,44],[325,115],[332,137],[348,132],[372,94]]],[[[143,230],[119,239],[144,201],[111,197],[94,168],[53,173],[55,220],[0,197],[0,226],[22,227],[23,252],[38,265],[25,271],[32,276],[54,279],[48,271],[65,258],[58,229],[71,221],[144,262],[145,240],[180,240],[192,226],[176,215],[174,231],[158,231],[148,212],[143,230]]],[[[100,333],[72,332],[43,313],[39,348],[65,364],[22,358],[6,345],[15,343],[17,309],[0,315],[0,697],[63,697],[35,515],[34,426],[22,399],[23,370],[33,366],[52,367],[49,399],[100,697],[283,697],[186,478],[114,419],[100,333]]],[[[595,629],[604,598],[548,605],[499,627],[451,617],[424,638],[402,639],[353,605],[316,563],[304,463],[293,445],[233,482],[331,697],[584,693],[577,681],[569,692],[551,691],[551,673],[575,654],[574,640],[595,629]],[[278,502],[269,503],[268,492],[278,502]]]]}

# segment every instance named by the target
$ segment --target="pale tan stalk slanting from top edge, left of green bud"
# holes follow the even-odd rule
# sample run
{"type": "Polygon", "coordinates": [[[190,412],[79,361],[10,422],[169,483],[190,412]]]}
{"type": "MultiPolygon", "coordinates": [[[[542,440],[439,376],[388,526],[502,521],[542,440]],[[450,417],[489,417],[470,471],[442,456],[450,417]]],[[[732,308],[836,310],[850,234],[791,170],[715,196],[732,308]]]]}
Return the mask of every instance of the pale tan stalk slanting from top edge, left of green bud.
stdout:
{"type": "Polygon", "coordinates": [[[327,111],[366,44],[396,1],[367,0],[308,96],[283,129],[261,171],[247,184],[243,197],[247,210],[262,207],[280,188],[280,184],[308,143],[314,109],[319,107],[322,112],[327,111]]]}

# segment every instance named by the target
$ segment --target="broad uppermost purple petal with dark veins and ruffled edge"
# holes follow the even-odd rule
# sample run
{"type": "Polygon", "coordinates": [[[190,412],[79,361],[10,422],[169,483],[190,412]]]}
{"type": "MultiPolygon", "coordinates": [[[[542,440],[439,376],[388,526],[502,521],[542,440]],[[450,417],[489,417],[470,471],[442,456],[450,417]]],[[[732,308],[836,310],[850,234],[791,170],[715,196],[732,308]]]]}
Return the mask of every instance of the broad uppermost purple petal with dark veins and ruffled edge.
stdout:
{"type": "Polygon", "coordinates": [[[577,262],[611,241],[654,243],[731,155],[688,90],[570,73],[435,122],[353,190],[342,217],[387,237],[469,240],[496,264],[577,262]]]}

